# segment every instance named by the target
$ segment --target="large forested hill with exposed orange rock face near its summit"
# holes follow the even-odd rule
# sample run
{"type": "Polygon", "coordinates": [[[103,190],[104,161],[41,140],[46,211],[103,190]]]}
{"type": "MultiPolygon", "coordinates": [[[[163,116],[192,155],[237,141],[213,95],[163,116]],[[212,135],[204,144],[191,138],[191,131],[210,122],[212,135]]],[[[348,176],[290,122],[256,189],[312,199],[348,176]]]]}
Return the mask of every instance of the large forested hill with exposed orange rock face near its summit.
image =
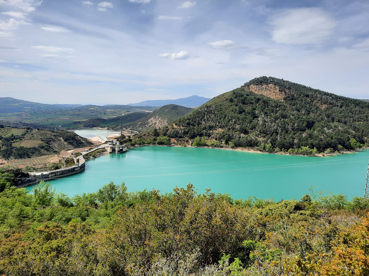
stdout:
{"type": "Polygon", "coordinates": [[[179,118],[166,135],[262,151],[353,149],[368,142],[369,102],[259,77],[179,118]]]}

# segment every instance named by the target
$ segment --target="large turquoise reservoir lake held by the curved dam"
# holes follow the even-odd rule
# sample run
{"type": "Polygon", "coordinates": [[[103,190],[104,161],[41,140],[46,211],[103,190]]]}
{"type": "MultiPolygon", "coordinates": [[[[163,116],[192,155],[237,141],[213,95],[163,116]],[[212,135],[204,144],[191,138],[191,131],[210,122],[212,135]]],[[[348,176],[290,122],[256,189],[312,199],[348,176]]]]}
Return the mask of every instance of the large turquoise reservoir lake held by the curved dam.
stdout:
{"type": "MultiPolygon", "coordinates": [[[[225,149],[144,146],[86,162],[82,173],[50,180],[56,192],[69,196],[96,192],[113,181],[128,191],[171,192],[190,182],[198,193],[210,188],[234,199],[300,199],[313,190],[363,197],[367,151],[308,157],[230,151],[225,149]]],[[[31,189],[32,187],[27,187],[31,189]]]]}

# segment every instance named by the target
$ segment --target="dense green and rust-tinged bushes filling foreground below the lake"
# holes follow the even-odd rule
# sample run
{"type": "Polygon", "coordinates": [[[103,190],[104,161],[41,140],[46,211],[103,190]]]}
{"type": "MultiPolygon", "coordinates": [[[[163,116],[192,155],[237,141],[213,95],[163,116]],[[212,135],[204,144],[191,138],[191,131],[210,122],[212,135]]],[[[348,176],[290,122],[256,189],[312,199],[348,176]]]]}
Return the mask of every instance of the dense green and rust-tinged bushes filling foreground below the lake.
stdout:
{"type": "Polygon", "coordinates": [[[368,275],[363,198],[311,189],[276,203],[111,182],[73,198],[7,185],[0,202],[4,275],[368,275]]]}

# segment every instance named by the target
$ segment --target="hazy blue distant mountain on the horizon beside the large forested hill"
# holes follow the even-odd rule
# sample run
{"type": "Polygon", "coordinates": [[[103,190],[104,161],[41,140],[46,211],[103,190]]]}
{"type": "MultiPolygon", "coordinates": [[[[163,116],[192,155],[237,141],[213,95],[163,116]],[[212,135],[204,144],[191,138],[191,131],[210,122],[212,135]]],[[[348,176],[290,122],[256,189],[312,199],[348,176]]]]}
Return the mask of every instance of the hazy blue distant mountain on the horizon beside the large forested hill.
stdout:
{"type": "Polygon", "coordinates": [[[165,105],[180,105],[185,107],[197,107],[206,103],[210,98],[204,98],[193,95],[187,98],[180,98],[175,100],[144,100],[139,103],[129,103],[130,106],[165,106],[165,105]]]}

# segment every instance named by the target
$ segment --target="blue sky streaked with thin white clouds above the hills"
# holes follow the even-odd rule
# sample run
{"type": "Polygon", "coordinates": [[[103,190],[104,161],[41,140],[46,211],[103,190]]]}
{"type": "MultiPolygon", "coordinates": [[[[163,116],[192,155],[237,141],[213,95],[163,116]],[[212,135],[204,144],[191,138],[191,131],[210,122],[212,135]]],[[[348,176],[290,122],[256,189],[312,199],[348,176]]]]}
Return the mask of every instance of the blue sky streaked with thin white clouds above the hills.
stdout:
{"type": "Polygon", "coordinates": [[[369,1],[0,0],[0,97],[213,98],[273,76],[369,99],[369,1]]]}

